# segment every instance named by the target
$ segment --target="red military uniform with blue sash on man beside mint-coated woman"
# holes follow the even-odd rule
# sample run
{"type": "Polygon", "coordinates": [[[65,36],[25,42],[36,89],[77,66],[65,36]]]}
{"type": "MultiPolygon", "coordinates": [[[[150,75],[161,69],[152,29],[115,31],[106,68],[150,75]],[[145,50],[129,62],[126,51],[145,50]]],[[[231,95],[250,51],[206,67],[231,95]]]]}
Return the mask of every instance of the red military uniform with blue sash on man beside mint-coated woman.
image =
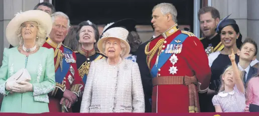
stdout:
{"type": "MultiPolygon", "coordinates": [[[[56,87],[49,93],[51,96],[49,103],[50,112],[66,112],[64,104],[60,105],[65,89],[71,90],[78,97],[81,96],[83,90],[83,81],[79,76],[76,65],[76,54],[63,44],[57,44],[48,37],[43,44],[44,47],[53,48],[55,62],[55,80],[56,87]],[[56,48],[59,49],[56,49],[56,48]]],[[[68,108],[68,107],[67,107],[68,108]]],[[[71,108],[68,109],[71,112],[71,108]]]]}

